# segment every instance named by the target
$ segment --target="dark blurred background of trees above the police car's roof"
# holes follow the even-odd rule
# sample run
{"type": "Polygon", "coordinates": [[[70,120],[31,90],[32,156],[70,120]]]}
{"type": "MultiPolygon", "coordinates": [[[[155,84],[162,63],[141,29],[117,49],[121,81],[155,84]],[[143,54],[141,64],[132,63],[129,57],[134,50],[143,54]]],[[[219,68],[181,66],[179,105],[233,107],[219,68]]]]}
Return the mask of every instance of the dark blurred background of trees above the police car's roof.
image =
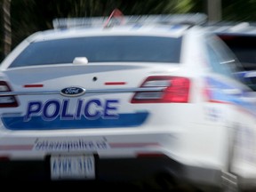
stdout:
{"type": "Polygon", "coordinates": [[[67,17],[203,12],[210,21],[254,21],[256,0],[0,0],[0,61],[24,38],[67,17]]]}

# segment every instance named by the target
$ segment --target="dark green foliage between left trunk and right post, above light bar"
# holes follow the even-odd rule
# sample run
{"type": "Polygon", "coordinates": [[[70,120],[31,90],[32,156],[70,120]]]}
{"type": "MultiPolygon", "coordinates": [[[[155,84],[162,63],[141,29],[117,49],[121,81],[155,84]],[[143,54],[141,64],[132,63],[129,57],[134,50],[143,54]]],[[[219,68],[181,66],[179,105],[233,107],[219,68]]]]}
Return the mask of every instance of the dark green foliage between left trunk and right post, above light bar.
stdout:
{"type": "Polygon", "coordinates": [[[52,28],[55,18],[108,16],[115,8],[125,15],[180,13],[193,6],[193,0],[12,0],[12,47],[52,28]]]}

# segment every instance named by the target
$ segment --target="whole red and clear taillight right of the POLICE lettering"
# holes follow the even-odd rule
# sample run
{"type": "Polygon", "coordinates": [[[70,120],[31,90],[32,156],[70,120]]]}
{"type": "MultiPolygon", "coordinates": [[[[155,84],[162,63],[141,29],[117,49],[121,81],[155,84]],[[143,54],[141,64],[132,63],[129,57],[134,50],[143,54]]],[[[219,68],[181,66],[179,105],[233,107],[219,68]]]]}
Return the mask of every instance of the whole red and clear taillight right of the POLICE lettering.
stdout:
{"type": "Polygon", "coordinates": [[[163,91],[136,92],[132,103],[188,102],[190,80],[180,76],[149,76],[141,88],[161,88],[163,91]]]}

